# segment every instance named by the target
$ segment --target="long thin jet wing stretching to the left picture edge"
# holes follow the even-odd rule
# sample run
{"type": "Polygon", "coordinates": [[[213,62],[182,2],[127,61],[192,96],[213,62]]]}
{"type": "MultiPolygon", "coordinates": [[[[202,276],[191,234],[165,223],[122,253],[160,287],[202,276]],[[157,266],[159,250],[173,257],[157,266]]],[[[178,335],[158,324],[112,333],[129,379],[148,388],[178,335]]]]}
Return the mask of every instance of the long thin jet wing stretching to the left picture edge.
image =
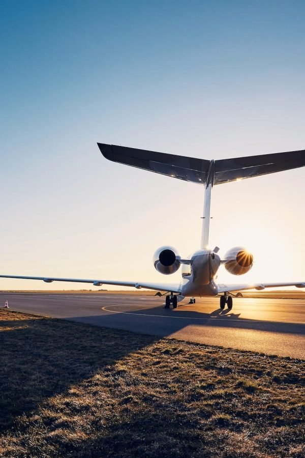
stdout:
{"type": "Polygon", "coordinates": [[[0,278],[16,278],[25,280],[42,280],[46,283],[52,281],[68,281],[72,283],[92,283],[94,286],[102,286],[103,284],[113,284],[123,287],[134,287],[137,289],[145,288],[147,290],[171,291],[173,293],[181,293],[181,288],[178,283],[146,283],[137,281],[116,281],[116,280],[99,280],[99,279],[82,279],[82,278],[57,278],[57,277],[31,277],[25,275],[0,275],[0,278]]]}

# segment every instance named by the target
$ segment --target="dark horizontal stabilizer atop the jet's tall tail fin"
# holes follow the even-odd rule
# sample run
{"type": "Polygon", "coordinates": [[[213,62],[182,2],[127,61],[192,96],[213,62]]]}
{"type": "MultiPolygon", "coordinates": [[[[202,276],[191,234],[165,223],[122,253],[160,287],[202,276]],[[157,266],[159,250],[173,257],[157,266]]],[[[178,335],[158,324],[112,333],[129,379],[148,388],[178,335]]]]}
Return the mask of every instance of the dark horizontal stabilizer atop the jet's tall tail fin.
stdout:
{"type": "Polygon", "coordinates": [[[208,179],[217,185],[305,166],[305,150],[210,161],[102,143],[98,146],[111,161],[203,185],[208,179]]]}

